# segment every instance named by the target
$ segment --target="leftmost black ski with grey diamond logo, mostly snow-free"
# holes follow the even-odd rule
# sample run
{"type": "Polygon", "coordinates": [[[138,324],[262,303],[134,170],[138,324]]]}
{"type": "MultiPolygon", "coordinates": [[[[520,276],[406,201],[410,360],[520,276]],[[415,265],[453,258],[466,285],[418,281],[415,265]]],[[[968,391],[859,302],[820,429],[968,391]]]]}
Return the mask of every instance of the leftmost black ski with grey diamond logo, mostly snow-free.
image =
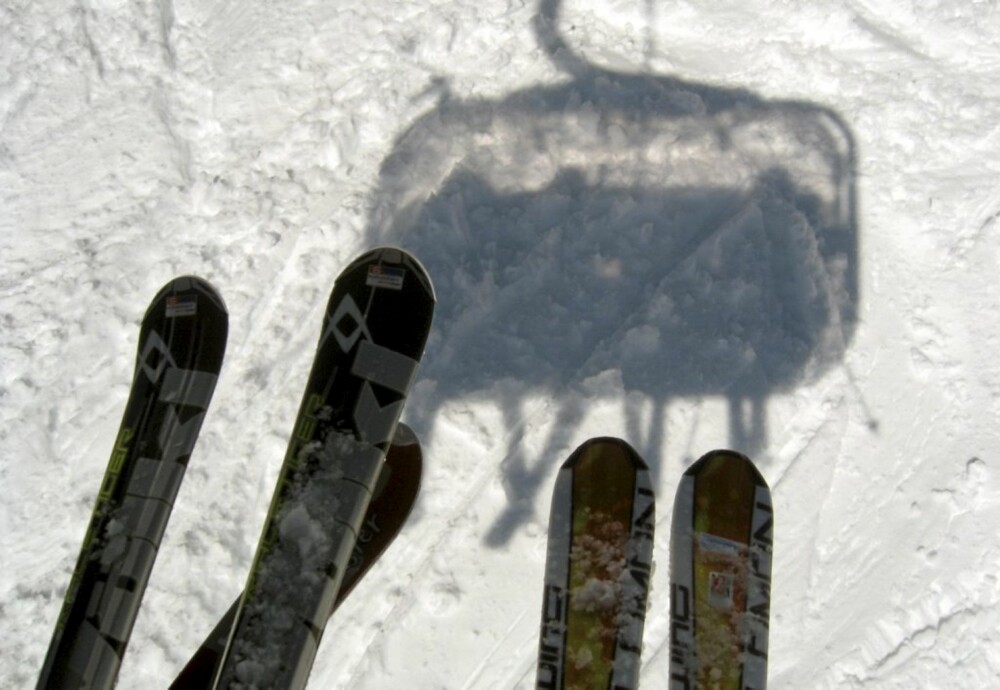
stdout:
{"type": "Polygon", "coordinates": [[[135,376],[38,688],[111,688],[226,346],[204,280],[176,278],[146,311],[135,376]]]}

